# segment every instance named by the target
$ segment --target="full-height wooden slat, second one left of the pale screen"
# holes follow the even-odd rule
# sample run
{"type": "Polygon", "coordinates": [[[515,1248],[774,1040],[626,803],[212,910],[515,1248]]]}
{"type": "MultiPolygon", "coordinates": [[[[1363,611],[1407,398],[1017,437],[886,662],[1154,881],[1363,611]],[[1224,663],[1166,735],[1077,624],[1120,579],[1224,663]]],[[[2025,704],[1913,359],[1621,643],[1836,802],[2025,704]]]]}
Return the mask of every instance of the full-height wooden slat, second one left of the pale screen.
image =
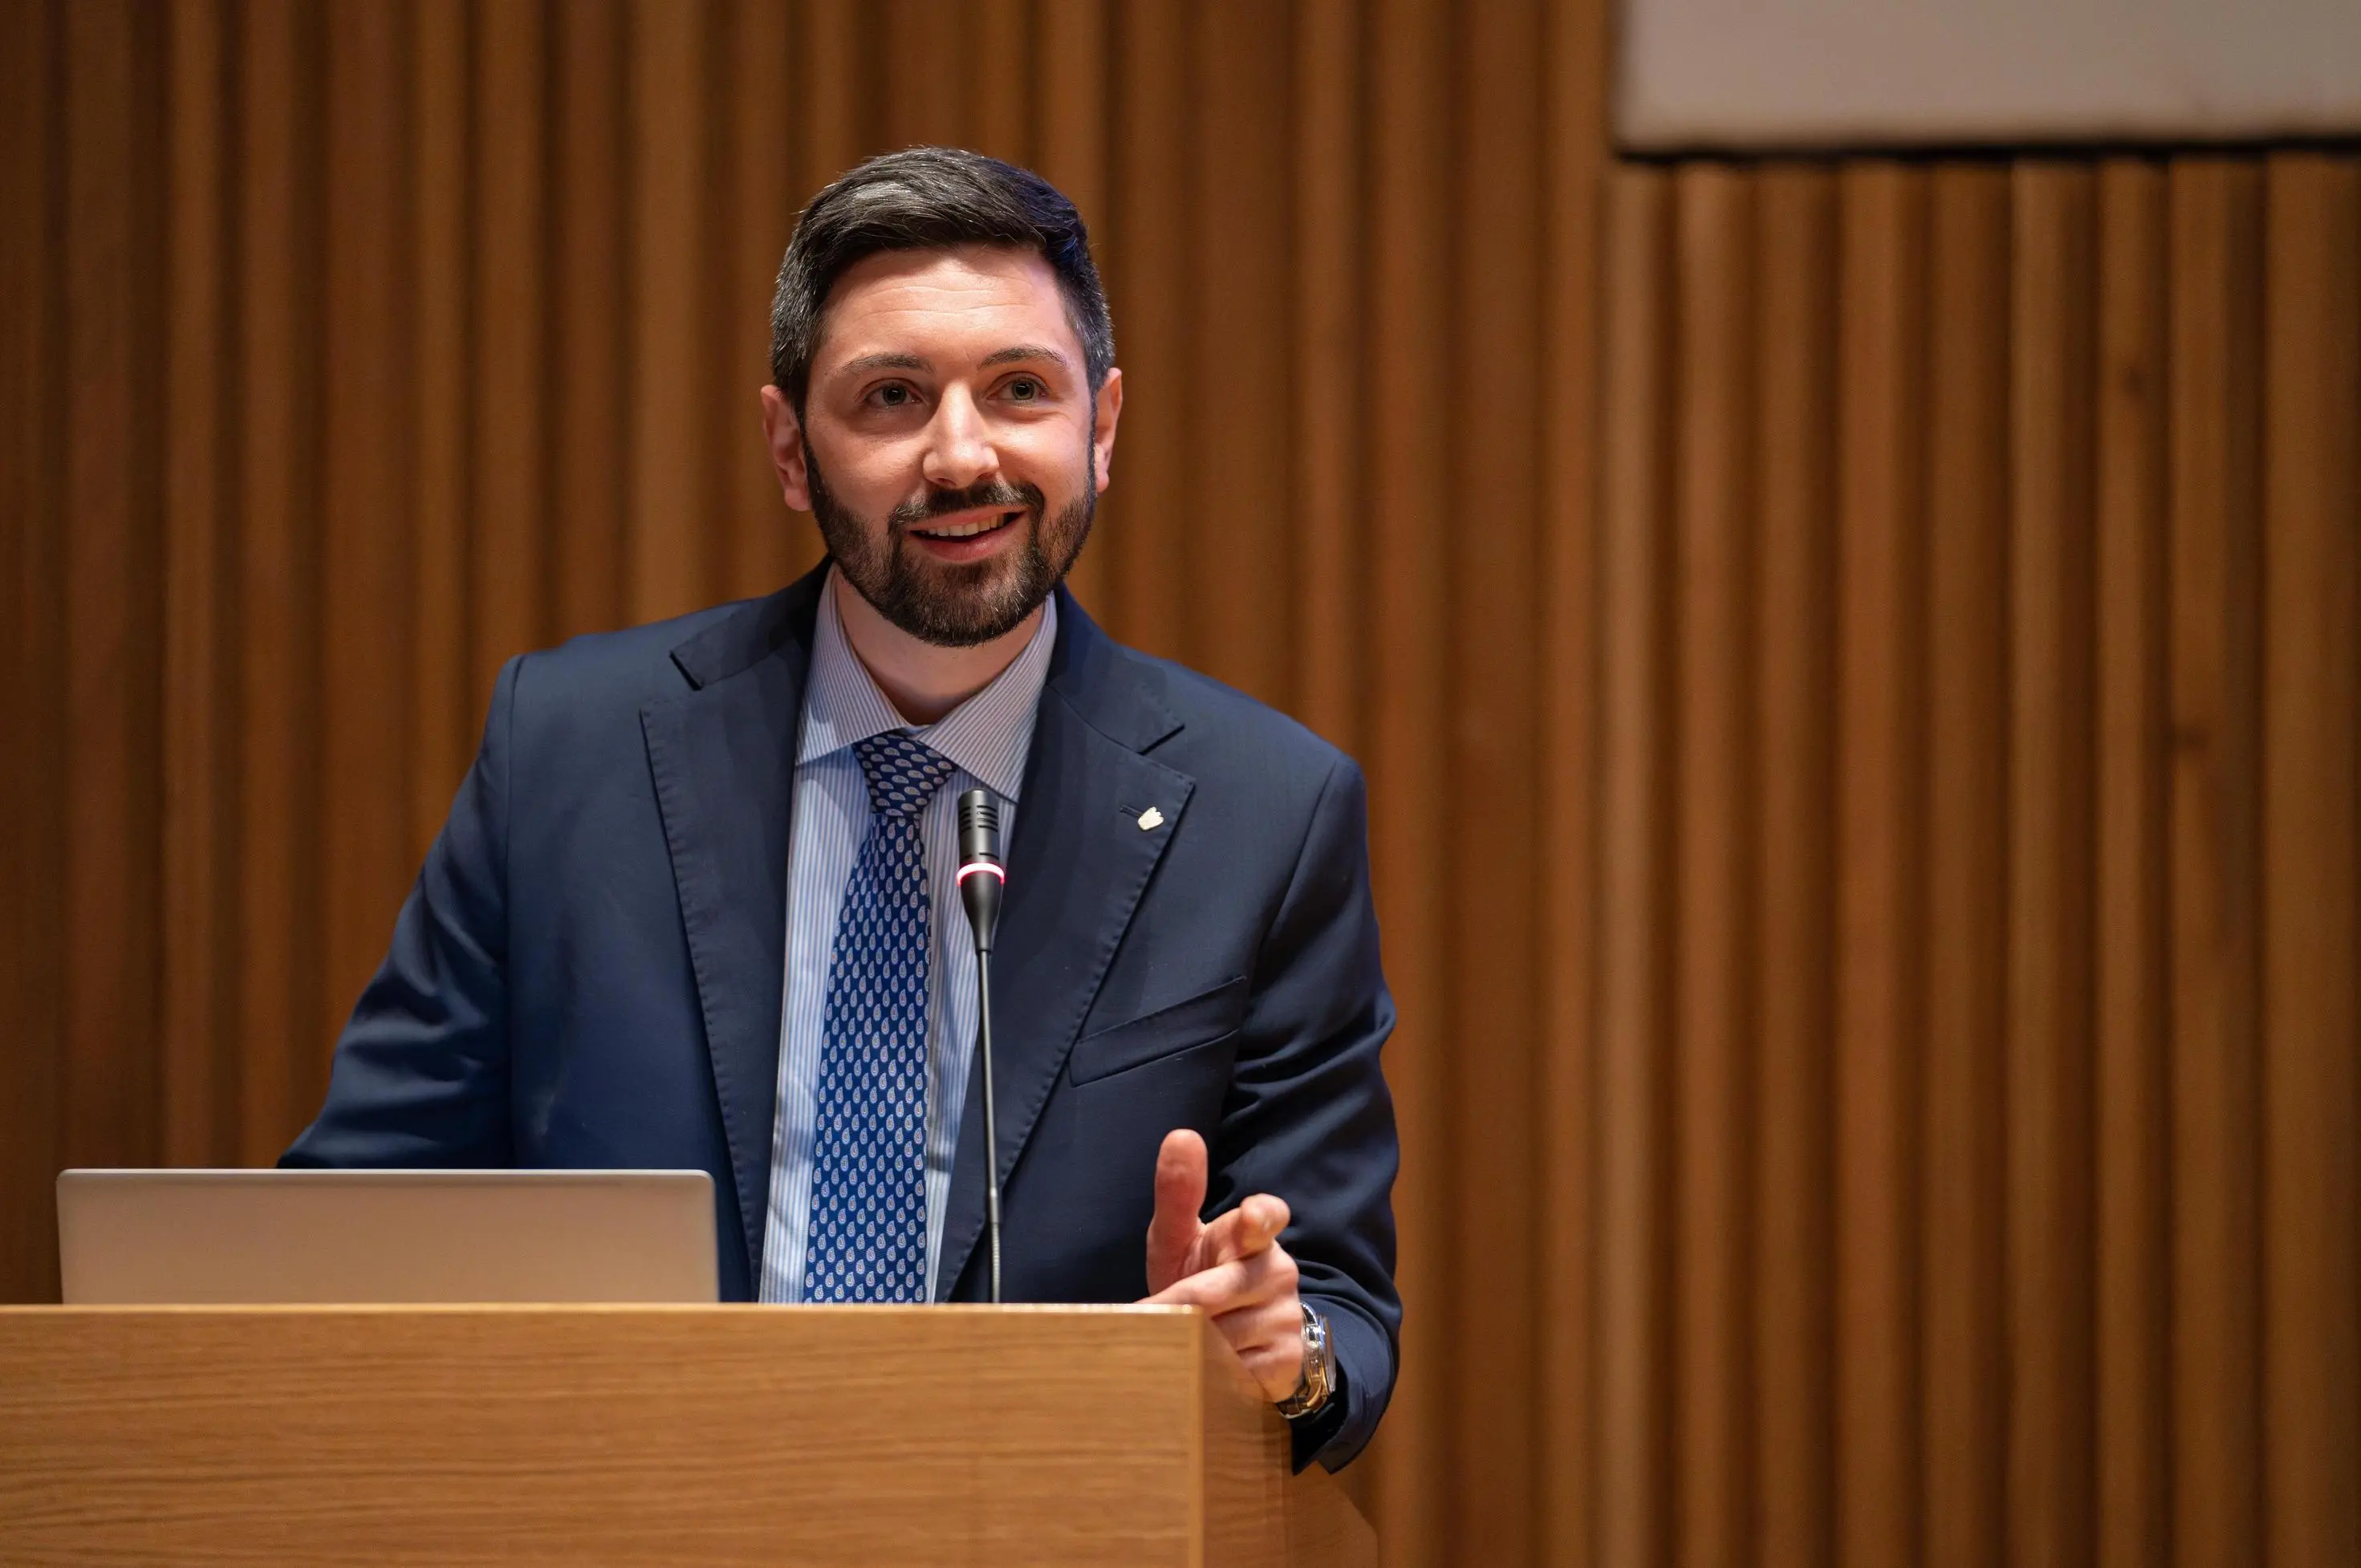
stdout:
{"type": "MultiPolygon", "coordinates": [[[[1459,156],[1490,170],[1457,189],[1459,279],[1450,378],[1452,401],[1487,406],[1459,425],[1450,491],[1459,517],[1445,550],[1452,649],[1447,815],[1452,881],[1450,1037],[1532,1041],[1537,999],[1537,704],[1539,640],[1539,201],[1535,142],[1539,83],[1523,68],[1539,52],[1539,7],[1506,0],[1471,12],[1459,33],[1459,156]],[[1525,394],[1492,404],[1497,387],[1525,394]],[[1461,529],[1485,548],[1464,548],[1461,529]]],[[[1428,527],[1443,522],[1428,520],[1428,527]]],[[[1270,614],[1289,619],[1282,602],[1270,614]]],[[[1268,635],[1268,633],[1265,633],[1268,635]]],[[[1535,1405],[1542,1301],[1535,1294],[1535,1176],[1539,1072],[1530,1044],[1454,1051],[1450,1089],[1450,1226],[1459,1334],[1452,1377],[1483,1398],[1461,1398],[1452,1426],[1457,1547],[1476,1561],[1523,1563],[1535,1551],[1535,1405]]]]}

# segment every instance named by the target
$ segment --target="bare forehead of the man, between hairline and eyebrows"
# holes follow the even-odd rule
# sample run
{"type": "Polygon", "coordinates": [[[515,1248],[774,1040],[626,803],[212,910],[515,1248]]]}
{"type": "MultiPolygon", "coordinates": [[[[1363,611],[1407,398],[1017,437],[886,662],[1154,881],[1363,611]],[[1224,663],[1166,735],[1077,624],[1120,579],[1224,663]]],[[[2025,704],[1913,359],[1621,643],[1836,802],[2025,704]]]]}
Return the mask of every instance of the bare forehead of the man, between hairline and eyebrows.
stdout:
{"type": "Polygon", "coordinates": [[[1046,342],[1081,364],[1058,274],[1039,250],[883,250],[848,267],[829,290],[812,371],[824,375],[869,354],[956,364],[1013,342],[1046,342]]]}

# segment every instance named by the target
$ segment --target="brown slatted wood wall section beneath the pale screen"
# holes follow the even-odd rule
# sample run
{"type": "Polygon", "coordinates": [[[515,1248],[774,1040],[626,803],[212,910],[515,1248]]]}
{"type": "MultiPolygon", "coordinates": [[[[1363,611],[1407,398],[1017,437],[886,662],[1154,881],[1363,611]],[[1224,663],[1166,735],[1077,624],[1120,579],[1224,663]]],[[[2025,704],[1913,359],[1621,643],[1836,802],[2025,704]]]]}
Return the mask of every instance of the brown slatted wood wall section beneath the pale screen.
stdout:
{"type": "Polygon", "coordinates": [[[2361,158],[1605,255],[1563,1561],[2361,1561],[2361,158]]]}

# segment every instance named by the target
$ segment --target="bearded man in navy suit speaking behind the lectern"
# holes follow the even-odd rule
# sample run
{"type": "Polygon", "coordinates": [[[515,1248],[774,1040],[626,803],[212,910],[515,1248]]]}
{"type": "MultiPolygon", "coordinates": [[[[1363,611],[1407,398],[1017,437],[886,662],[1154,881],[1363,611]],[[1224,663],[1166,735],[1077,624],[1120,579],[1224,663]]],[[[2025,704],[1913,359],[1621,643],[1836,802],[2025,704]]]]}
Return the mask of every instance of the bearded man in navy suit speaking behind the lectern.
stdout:
{"type": "Polygon", "coordinates": [[[1006,1296],[1204,1306],[1343,1464],[1400,1327],[1362,779],[1060,586],[1124,406],[1081,217],[864,163],[796,224],[772,378],[831,562],[501,671],[286,1164],[701,1167],[732,1299],[980,1299],[982,786],[1006,1296]]]}

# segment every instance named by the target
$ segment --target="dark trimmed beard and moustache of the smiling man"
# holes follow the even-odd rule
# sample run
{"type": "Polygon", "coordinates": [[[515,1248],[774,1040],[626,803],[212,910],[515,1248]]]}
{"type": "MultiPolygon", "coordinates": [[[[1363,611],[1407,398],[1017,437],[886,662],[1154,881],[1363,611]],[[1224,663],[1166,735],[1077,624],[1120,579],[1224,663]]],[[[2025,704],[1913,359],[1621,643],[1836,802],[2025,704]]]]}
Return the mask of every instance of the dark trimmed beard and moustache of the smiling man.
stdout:
{"type": "Polygon", "coordinates": [[[803,444],[803,470],[812,484],[812,517],[836,569],[892,626],[935,647],[975,647],[1015,631],[1065,581],[1098,512],[1098,453],[1088,449],[1081,494],[1055,517],[1039,484],[987,479],[963,491],[930,489],[923,501],[897,505],[876,529],[836,498],[810,442],[803,444]],[[1013,550],[970,564],[933,562],[909,545],[911,529],[975,508],[1022,510],[1006,527],[1025,529],[1025,536],[1013,550]]]}

